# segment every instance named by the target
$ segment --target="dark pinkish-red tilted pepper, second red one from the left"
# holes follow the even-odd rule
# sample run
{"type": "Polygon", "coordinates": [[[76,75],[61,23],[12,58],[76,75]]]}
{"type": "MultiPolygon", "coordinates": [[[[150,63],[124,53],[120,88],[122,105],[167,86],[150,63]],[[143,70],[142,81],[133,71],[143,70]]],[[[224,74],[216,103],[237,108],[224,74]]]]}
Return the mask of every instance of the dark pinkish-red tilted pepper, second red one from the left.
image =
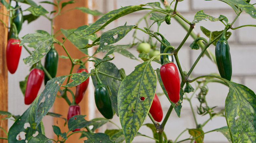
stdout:
{"type": "Polygon", "coordinates": [[[43,79],[43,70],[34,68],[30,71],[25,91],[25,104],[29,105],[34,101],[42,85],[43,79]]]}

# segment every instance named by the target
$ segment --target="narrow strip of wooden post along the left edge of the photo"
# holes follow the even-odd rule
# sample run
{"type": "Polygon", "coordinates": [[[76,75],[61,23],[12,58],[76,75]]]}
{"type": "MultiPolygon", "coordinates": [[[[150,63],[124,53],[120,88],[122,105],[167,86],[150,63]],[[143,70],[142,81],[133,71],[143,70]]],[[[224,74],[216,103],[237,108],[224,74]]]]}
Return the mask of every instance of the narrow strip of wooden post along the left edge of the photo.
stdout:
{"type": "MultiPolygon", "coordinates": [[[[6,7],[0,3],[0,12],[7,14],[6,7]]],[[[8,16],[0,14],[0,19],[8,25],[8,16]]],[[[8,111],[8,70],[6,65],[6,45],[8,37],[8,28],[0,22],[0,110],[8,111]]],[[[0,119],[4,118],[0,116],[0,119]]],[[[7,120],[0,120],[0,126],[7,132],[7,120]]],[[[5,132],[0,129],[0,137],[7,138],[5,132]]],[[[7,143],[6,139],[0,139],[0,143],[7,143]]]]}

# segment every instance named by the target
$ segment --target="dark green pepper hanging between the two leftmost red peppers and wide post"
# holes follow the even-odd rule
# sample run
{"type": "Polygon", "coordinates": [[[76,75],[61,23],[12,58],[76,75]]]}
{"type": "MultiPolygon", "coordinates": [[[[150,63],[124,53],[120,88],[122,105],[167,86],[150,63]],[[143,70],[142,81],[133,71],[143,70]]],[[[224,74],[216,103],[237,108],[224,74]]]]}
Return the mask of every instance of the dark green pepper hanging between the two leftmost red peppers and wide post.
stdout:
{"type": "MultiPolygon", "coordinates": [[[[58,60],[59,56],[57,51],[55,50],[54,46],[52,45],[50,51],[45,56],[45,63],[44,67],[45,69],[50,73],[50,75],[53,77],[56,76],[57,68],[58,68],[58,60]]],[[[44,76],[44,84],[46,85],[47,81],[50,79],[47,75],[44,76]]]]}

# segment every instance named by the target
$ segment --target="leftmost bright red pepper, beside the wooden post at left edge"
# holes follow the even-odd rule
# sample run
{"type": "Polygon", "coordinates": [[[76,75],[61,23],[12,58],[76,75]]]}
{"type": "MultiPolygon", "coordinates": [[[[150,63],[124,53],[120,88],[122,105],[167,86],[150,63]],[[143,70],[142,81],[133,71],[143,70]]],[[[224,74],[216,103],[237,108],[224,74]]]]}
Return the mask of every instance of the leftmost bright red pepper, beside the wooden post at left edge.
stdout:
{"type": "Polygon", "coordinates": [[[16,42],[20,42],[20,40],[11,38],[8,40],[6,47],[7,68],[11,74],[15,73],[17,70],[21,54],[22,46],[19,46],[20,43],[16,42]]]}

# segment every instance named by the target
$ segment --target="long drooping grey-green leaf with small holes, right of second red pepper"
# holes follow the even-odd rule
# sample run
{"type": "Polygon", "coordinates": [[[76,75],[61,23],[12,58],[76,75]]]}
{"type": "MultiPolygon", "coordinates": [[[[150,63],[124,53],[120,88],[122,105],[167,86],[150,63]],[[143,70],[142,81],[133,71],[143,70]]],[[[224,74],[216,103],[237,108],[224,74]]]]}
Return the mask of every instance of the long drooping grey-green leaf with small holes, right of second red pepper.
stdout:
{"type": "Polygon", "coordinates": [[[53,106],[57,92],[67,77],[67,75],[54,77],[47,82],[43,92],[38,99],[35,118],[35,122],[37,123],[36,126],[38,126],[40,121],[53,106]]]}

